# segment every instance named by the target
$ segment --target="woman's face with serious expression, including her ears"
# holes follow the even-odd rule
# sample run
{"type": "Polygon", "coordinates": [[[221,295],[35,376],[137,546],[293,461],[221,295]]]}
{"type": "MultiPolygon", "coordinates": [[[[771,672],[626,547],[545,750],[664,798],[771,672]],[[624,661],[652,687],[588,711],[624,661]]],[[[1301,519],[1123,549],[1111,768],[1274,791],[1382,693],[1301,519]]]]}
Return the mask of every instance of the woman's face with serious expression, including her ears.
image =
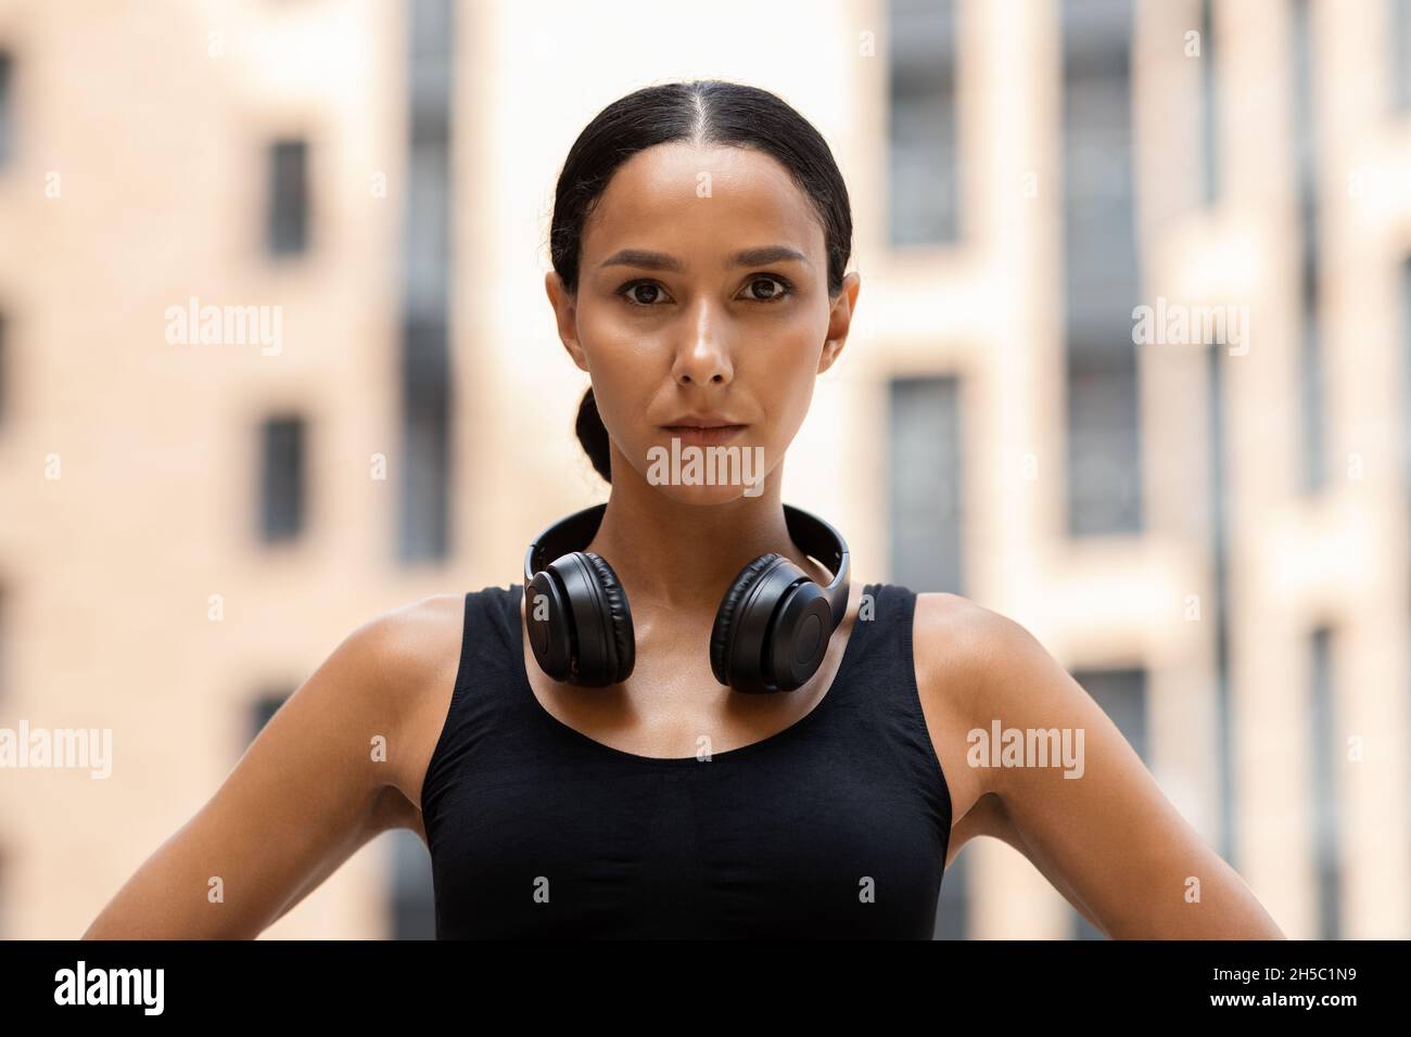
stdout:
{"type": "Polygon", "coordinates": [[[553,272],[546,288],[564,347],[593,378],[614,483],[625,461],[673,499],[714,504],[758,495],[783,459],[814,378],[842,350],[858,275],[828,299],[823,227],[777,161],[663,144],[619,166],[598,199],[577,298],[553,272]],[[732,483],[684,484],[691,447],[732,483]]]}

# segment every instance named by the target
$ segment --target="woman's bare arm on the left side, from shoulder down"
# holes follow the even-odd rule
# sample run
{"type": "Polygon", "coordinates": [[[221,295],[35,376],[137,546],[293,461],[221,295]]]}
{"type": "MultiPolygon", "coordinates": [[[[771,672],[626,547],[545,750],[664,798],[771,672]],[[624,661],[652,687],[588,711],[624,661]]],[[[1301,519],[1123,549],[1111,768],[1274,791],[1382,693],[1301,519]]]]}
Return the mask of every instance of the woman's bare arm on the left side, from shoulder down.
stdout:
{"type": "Polygon", "coordinates": [[[426,610],[408,605],[350,633],[83,938],[254,938],[374,835],[412,827],[375,749],[398,742],[399,700],[435,669],[426,610]]]}

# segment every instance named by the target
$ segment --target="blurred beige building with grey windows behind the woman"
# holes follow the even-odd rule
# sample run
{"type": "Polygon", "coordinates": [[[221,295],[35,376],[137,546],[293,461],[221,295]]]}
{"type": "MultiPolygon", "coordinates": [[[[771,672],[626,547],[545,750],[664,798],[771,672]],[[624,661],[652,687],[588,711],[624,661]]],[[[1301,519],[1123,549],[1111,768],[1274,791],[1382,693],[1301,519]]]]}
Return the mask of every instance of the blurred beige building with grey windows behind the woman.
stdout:
{"type": "MultiPolygon", "coordinates": [[[[852,195],[786,498],[1029,626],[1288,935],[1408,935],[1411,0],[636,13],[0,0],[0,727],[114,742],[0,772],[0,935],[82,933],[347,632],[604,499],[553,181],[686,78],[852,195]],[[172,341],[203,305],[244,333],[172,341]]],[[[429,875],[380,837],[268,934],[429,935],[429,875]]],[[[937,934],[1094,935],[993,839],[937,934]]]]}

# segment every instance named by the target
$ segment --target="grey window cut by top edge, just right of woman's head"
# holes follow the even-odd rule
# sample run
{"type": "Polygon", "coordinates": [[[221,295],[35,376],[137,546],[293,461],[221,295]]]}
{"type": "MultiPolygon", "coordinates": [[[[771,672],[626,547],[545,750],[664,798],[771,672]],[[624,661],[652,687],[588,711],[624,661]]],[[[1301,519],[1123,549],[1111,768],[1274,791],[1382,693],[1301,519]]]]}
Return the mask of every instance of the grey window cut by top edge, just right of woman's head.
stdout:
{"type": "Polygon", "coordinates": [[[955,0],[889,0],[889,207],[893,247],[959,236],[955,0]]]}

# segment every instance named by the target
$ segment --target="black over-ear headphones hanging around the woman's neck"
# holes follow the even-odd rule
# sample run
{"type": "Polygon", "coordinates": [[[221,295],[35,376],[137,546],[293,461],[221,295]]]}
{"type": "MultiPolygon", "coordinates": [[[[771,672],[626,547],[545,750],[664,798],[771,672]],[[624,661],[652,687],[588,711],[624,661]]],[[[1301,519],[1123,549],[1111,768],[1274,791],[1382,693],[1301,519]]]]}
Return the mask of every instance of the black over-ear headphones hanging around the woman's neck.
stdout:
{"type": "MultiPolygon", "coordinates": [[[[792,691],[809,681],[848,610],[848,545],[823,519],[783,505],[789,536],[828,566],[820,587],[770,552],[739,570],[715,612],[710,667],[737,691],[792,691]]],[[[539,669],[559,681],[605,687],[626,680],[636,662],[632,610],[591,543],[605,504],[545,529],[525,552],[525,628],[539,669]],[[553,559],[545,564],[545,559],[553,559]]]]}

